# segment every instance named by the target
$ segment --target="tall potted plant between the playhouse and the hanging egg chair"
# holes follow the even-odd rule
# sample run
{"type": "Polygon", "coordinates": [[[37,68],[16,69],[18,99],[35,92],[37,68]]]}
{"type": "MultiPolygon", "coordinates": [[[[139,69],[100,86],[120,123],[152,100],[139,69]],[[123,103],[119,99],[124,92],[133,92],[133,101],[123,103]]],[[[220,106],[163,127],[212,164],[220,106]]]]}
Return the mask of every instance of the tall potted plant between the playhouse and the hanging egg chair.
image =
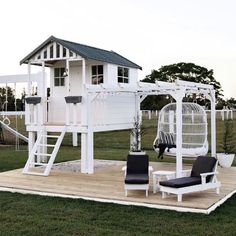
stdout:
{"type": "Polygon", "coordinates": [[[130,154],[132,155],[144,155],[146,154],[141,149],[141,138],[143,137],[145,130],[141,129],[142,123],[140,116],[137,115],[134,118],[133,128],[130,132],[130,154]]]}

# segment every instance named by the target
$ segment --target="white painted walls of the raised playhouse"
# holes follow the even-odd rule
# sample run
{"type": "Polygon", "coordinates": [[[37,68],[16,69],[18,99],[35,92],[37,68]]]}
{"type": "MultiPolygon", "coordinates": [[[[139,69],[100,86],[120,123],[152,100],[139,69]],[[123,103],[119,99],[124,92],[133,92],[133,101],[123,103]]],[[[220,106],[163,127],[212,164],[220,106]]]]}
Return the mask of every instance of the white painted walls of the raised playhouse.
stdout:
{"type": "MultiPolygon", "coordinates": [[[[104,66],[104,83],[118,86],[117,82],[117,65],[106,64],[103,62],[89,60],[86,61],[86,83],[91,84],[91,66],[104,66]]],[[[65,67],[65,62],[57,62],[55,67],[65,67]]],[[[72,96],[82,95],[82,62],[70,62],[70,94],[72,96]]],[[[129,69],[130,84],[136,84],[138,80],[137,69],[129,69]]],[[[66,86],[54,86],[54,69],[50,72],[51,78],[51,98],[49,104],[49,122],[65,123],[66,103],[64,97],[68,95],[66,86]]],[[[66,78],[68,79],[68,78],[66,78]]],[[[73,106],[73,105],[72,105],[73,106]]],[[[81,122],[81,106],[77,107],[77,121],[81,122]]],[[[73,110],[73,109],[71,109],[73,110]]],[[[135,117],[135,97],[133,94],[100,94],[94,101],[92,107],[93,124],[94,125],[121,125],[134,122],[135,117]]],[[[73,117],[71,113],[71,117],[73,117]]],[[[72,120],[71,120],[72,121],[72,120]]],[[[105,129],[105,128],[104,128],[105,129]]]]}

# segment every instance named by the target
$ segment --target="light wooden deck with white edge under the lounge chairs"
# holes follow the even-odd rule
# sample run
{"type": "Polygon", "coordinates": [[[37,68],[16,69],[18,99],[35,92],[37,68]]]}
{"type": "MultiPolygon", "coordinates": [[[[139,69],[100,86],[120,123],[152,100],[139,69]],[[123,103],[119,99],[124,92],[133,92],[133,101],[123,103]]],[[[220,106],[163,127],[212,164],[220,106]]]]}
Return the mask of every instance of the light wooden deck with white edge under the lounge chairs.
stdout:
{"type": "MultiPolygon", "coordinates": [[[[176,195],[162,199],[161,193],[152,192],[150,178],[149,196],[144,191],[129,191],[124,195],[124,173],[121,171],[125,162],[114,162],[96,170],[92,175],[52,171],[50,176],[23,175],[22,169],[0,173],[0,190],[32,193],[48,196],[83,198],[101,202],[114,202],[128,205],[141,205],[178,211],[210,213],[236,192],[236,167],[218,168],[219,180],[222,183],[220,194],[215,190],[183,195],[183,202],[178,203],[176,195]]],[[[175,164],[151,163],[154,170],[174,170],[175,164]]],[[[189,169],[188,166],[184,166],[189,169]]]]}

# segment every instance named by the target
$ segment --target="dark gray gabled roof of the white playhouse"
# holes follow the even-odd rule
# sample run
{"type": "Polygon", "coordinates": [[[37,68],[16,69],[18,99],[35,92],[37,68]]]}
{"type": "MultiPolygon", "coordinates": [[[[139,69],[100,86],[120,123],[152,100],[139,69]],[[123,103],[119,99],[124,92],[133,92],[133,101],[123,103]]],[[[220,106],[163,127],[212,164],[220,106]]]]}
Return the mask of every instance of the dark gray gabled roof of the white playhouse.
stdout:
{"type": "Polygon", "coordinates": [[[103,61],[103,62],[112,63],[112,64],[116,64],[120,66],[142,69],[141,66],[135,64],[134,62],[128,60],[127,58],[119,55],[118,53],[114,51],[107,51],[100,48],[95,48],[95,47],[91,47],[91,46],[87,46],[87,45],[83,45],[79,43],[74,43],[74,42],[56,38],[54,36],[49,37],[40,46],[38,46],[34,51],[32,51],[29,55],[23,58],[20,61],[20,64],[28,63],[30,58],[35,56],[35,54],[37,54],[47,44],[51,42],[57,42],[85,59],[93,59],[93,60],[103,61]]]}

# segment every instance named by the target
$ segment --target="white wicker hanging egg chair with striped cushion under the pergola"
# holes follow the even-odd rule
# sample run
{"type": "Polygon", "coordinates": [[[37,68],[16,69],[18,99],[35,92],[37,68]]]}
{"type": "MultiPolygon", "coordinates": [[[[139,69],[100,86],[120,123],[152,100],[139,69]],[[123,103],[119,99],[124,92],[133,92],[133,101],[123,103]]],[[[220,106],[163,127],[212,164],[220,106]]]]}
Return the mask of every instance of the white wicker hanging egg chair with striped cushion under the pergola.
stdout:
{"type": "MultiPolygon", "coordinates": [[[[164,106],[158,118],[154,150],[160,154],[176,155],[176,103],[164,106]]],[[[182,104],[182,156],[197,157],[208,152],[207,114],[197,103],[182,104]]]]}

